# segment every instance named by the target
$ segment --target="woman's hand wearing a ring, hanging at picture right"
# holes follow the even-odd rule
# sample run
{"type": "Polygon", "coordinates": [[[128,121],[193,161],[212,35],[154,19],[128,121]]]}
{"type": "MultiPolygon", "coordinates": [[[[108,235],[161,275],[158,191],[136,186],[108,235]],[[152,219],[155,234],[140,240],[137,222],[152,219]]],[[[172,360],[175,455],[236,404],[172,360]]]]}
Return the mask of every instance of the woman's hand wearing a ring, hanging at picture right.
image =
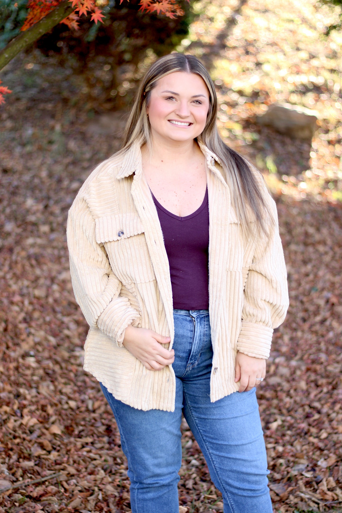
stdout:
{"type": "Polygon", "coordinates": [[[235,383],[240,382],[239,392],[248,392],[253,386],[260,385],[261,381],[256,378],[265,378],[266,360],[253,358],[247,354],[237,351],[235,359],[235,383]]]}

